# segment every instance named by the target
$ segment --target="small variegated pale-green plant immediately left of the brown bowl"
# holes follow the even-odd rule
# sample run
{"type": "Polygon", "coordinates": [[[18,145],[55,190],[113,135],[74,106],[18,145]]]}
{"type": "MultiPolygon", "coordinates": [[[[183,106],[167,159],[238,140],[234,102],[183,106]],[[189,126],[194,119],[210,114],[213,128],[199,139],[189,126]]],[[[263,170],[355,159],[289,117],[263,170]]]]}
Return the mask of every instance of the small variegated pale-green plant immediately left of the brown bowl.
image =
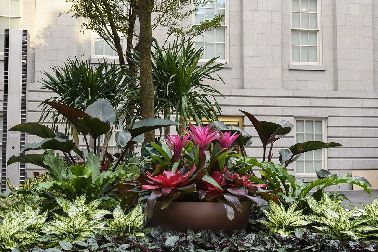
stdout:
{"type": "Polygon", "coordinates": [[[147,233],[154,230],[153,227],[144,227],[144,215],[142,204],[135,206],[130,213],[125,215],[121,206],[117,206],[113,212],[113,220],[108,221],[109,233],[125,235],[130,233],[135,237],[145,237],[147,233]]]}

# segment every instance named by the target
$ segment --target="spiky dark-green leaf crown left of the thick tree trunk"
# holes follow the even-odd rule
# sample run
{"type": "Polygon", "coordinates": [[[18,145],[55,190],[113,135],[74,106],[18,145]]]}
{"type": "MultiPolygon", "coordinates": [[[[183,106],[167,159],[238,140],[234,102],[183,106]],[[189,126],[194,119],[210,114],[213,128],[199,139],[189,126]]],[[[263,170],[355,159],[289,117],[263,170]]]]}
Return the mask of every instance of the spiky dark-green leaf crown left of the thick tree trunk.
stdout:
{"type": "Polygon", "coordinates": [[[53,91],[57,96],[50,97],[39,105],[42,107],[39,121],[45,121],[52,116],[53,130],[57,131],[59,124],[65,124],[67,135],[68,120],[56,113],[46,102],[59,102],[85,111],[96,100],[108,99],[113,107],[118,107],[127,99],[124,86],[132,80],[115,62],[108,65],[106,60],[93,66],[90,60],[68,57],[64,65],[51,66],[53,74],[43,72],[46,78],[38,81],[42,84],[40,88],[53,91]]]}

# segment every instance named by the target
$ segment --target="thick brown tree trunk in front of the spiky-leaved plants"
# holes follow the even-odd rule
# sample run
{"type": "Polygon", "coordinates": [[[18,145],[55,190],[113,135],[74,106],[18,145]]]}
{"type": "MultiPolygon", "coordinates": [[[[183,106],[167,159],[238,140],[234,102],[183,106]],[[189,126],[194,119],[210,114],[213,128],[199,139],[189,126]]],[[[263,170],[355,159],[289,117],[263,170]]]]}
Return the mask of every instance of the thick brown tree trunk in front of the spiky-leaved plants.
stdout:
{"type": "MultiPolygon", "coordinates": [[[[140,54],[140,87],[142,119],[155,117],[155,105],[152,80],[151,47],[153,42],[151,12],[152,0],[138,0],[139,15],[139,54],[140,54]]],[[[155,141],[155,131],[144,133],[143,144],[155,141]]]]}

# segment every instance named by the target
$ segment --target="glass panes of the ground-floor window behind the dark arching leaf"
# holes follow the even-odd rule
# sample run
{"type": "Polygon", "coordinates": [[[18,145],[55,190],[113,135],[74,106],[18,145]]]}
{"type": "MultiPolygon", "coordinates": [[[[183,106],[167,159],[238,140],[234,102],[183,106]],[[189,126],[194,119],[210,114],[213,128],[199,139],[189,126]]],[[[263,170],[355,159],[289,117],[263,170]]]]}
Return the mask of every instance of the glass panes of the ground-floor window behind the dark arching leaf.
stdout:
{"type": "MultiPolygon", "coordinates": [[[[325,119],[296,119],[296,143],[325,141],[325,119]]],[[[314,175],[325,169],[325,149],[303,153],[295,162],[296,175],[314,175]]]]}

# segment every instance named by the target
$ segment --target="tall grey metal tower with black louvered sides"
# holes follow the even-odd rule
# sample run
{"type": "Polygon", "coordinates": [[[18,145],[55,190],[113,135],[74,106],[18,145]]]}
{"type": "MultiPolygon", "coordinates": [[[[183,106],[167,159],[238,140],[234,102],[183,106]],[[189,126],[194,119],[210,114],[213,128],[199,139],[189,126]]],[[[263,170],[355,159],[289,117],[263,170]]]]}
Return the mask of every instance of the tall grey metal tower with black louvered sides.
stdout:
{"type": "MultiPolygon", "coordinates": [[[[27,53],[28,31],[5,30],[3,98],[3,147],[1,191],[7,190],[6,178],[17,185],[25,180],[25,163],[6,165],[12,155],[20,155],[26,135],[8,131],[14,125],[27,121],[27,53]]],[[[23,154],[21,154],[23,155],[23,154]]]]}

